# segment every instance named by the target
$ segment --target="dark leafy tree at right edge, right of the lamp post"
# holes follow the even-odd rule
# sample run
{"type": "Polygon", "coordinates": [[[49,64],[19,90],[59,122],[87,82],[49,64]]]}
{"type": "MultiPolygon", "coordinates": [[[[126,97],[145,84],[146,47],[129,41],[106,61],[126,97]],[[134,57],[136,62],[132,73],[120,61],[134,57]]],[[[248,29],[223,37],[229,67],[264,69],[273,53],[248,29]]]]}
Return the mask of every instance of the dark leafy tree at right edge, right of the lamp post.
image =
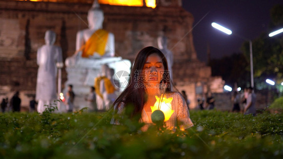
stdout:
{"type": "MultiPolygon", "coordinates": [[[[262,82],[272,78],[277,83],[283,81],[283,35],[268,37],[268,33],[283,26],[283,5],[276,5],[270,11],[271,24],[268,32],[262,33],[253,43],[253,67],[255,81],[262,82]]],[[[249,60],[249,42],[242,50],[249,60]]]]}

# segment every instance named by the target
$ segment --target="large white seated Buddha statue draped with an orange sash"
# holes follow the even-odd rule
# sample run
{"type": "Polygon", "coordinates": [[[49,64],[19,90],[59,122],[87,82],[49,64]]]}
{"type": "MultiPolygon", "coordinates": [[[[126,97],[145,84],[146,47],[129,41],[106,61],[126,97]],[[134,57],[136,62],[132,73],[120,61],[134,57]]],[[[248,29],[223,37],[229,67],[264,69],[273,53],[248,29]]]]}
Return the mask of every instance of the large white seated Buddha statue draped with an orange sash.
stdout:
{"type": "Polygon", "coordinates": [[[88,11],[88,28],[77,33],[76,52],[66,59],[66,66],[95,64],[95,59],[115,55],[114,35],[102,29],[103,11],[97,1],[88,11]]]}

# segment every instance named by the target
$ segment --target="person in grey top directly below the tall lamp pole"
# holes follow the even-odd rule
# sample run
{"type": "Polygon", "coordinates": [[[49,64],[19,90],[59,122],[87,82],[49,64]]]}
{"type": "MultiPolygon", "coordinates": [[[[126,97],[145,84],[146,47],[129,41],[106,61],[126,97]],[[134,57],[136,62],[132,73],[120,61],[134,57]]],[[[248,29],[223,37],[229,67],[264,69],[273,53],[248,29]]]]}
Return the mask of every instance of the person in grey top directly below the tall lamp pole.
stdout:
{"type": "Polygon", "coordinates": [[[256,97],[255,97],[255,94],[252,93],[252,91],[253,91],[253,88],[249,87],[248,88],[247,104],[246,104],[245,109],[244,109],[244,114],[245,115],[252,114],[253,116],[255,116],[255,113],[256,113],[256,110],[255,110],[256,97]]]}

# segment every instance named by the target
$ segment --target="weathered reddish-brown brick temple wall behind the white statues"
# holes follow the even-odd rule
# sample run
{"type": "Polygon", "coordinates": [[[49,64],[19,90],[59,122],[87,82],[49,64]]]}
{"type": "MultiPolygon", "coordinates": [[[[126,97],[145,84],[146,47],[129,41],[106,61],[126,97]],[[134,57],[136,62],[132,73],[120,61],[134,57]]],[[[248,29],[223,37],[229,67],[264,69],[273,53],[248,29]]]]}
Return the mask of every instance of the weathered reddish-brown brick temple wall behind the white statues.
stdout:
{"type": "MultiPolygon", "coordinates": [[[[174,83],[180,87],[189,85],[190,90],[193,87],[189,82],[207,83],[211,70],[196,59],[191,32],[193,16],[179,2],[155,9],[101,5],[103,28],[115,36],[115,55],[131,61],[140,49],[157,47],[157,37],[163,31],[168,37],[168,49],[174,54],[174,83]]],[[[9,86],[9,93],[20,90],[26,97],[35,94],[36,51],[44,45],[45,31],[56,32],[55,45],[62,47],[64,59],[73,55],[76,33],[87,28],[90,8],[91,4],[81,3],[0,0],[0,86],[9,86]]],[[[65,81],[63,68],[62,83],[65,81]]],[[[189,97],[194,97],[193,90],[188,92],[192,92],[189,97]]],[[[5,95],[8,92],[0,89],[0,96],[5,95]]]]}

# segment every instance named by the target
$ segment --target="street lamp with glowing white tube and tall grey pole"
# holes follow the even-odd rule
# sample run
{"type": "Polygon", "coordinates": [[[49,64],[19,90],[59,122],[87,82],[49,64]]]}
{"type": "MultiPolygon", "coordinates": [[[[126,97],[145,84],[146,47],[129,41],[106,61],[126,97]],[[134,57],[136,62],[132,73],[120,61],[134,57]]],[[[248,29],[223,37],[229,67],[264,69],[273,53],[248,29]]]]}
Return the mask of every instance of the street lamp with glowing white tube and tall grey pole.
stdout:
{"type": "MultiPolygon", "coordinates": [[[[230,29],[227,29],[215,22],[211,23],[211,26],[213,26],[214,28],[228,34],[228,35],[231,35],[232,34],[232,31],[230,29]]],[[[244,40],[248,40],[242,36],[239,36],[238,37],[244,39],[244,40]]],[[[252,52],[252,41],[249,40],[249,43],[250,43],[250,66],[251,66],[251,87],[253,88],[254,87],[254,83],[253,83],[253,52],[252,52]]]]}

